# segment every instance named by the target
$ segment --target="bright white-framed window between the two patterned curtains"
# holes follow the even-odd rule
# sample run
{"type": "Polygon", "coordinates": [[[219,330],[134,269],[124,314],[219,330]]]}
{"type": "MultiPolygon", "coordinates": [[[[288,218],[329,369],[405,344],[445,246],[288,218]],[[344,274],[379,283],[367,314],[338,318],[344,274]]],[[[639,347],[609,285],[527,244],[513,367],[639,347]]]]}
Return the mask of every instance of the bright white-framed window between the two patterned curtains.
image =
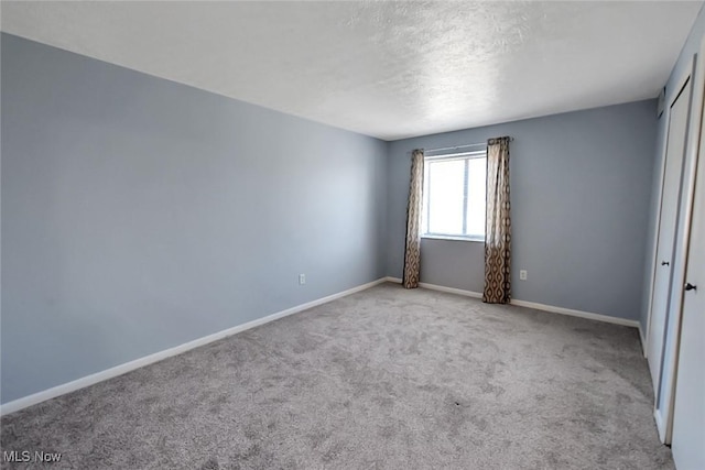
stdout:
{"type": "Polygon", "coordinates": [[[422,237],[485,240],[487,152],[426,156],[422,237]]]}

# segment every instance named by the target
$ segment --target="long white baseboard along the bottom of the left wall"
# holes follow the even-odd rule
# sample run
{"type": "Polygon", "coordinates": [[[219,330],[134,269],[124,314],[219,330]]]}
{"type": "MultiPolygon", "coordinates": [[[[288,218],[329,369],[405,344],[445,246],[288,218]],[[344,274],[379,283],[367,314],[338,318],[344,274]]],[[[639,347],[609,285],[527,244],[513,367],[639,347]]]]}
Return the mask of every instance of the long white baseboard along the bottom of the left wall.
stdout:
{"type": "Polygon", "coordinates": [[[242,325],[235,326],[232,328],[225,329],[223,331],[215,332],[213,335],[204,336],[203,338],[195,339],[193,341],[185,342],[183,345],[176,346],[174,348],[165,349],[163,351],[155,352],[153,354],[145,356],[140,359],[135,359],[134,361],[126,362],[120,365],[116,365],[110,369],[106,369],[105,371],[96,372],[95,374],[86,375],[80,379],[76,379],[72,382],[64,383],[62,385],[53,386],[51,389],[44,390],[42,392],[33,393],[32,395],[23,396],[22,398],[13,400],[12,402],[8,402],[6,404],[0,405],[0,416],[8,415],[10,413],[18,412],[22,408],[26,408],[28,406],[36,405],[37,403],[45,402],[51,398],[55,398],[57,396],[64,395],[66,393],[75,392],[80,389],[85,389],[87,386],[94,385],[98,382],[106,381],[108,379],[116,378],[118,375],[122,375],[124,373],[131,372],[135,369],[143,368],[149,364],[153,364],[154,362],[162,361],[166,358],[171,358],[173,356],[181,354],[183,352],[189,351],[192,349],[198,348],[200,346],[208,345],[210,342],[217,341],[223,338],[227,338],[229,336],[236,335],[238,332],[248,330],[250,328],[258,327],[260,325],[268,324],[270,321],[274,321],[279,318],[286,317],[289,315],[297,314],[303,310],[307,310],[308,308],[316,307],[318,305],[327,304],[328,302],[338,299],[340,297],[345,297],[350,294],[355,294],[356,292],[365,291],[367,288],[373,287],[378,284],[382,284],[387,282],[387,277],[381,277],[377,281],[369,282],[367,284],[359,285],[357,287],[349,288],[347,291],[339,292],[337,294],[328,295],[326,297],[322,297],[312,302],[307,302],[305,304],[296,305],[295,307],[288,308],[285,310],[278,311],[272,315],[268,315],[267,317],[258,318],[252,321],[248,321],[242,325]]]}

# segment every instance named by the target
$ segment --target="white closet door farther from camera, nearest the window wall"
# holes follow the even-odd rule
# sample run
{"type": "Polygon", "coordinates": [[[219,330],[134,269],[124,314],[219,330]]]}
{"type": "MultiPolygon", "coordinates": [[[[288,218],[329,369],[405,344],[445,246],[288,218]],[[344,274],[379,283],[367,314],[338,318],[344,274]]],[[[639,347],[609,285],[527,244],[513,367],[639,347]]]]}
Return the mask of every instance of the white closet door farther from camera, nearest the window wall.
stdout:
{"type": "Polygon", "coordinates": [[[671,106],[668,144],[665,154],[665,172],[661,197],[661,217],[659,221],[655,275],[653,298],[649,324],[647,358],[651,370],[654,394],[659,395],[661,368],[663,364],[663,345],[665,342],[666,323],[673,273],[673,253],[679,218],[683,159],[685,155],[685,138],[691,105],[690,76],[683,84],[682,91],[671,106]]]}

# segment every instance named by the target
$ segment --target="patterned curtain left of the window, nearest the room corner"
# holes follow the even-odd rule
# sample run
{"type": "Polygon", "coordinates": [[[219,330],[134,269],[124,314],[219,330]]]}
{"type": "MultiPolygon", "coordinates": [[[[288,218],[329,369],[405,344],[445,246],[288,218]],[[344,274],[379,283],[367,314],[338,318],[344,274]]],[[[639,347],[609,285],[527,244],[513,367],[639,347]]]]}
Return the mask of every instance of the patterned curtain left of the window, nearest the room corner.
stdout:
{"type": "Polygon", "coordinates": [[[411,184],[406,206],[406,248],[404,250],[405,288],[419,287],[421,273],[421,210],[423,204],[423,150],[411,154],[411,184]]]}

